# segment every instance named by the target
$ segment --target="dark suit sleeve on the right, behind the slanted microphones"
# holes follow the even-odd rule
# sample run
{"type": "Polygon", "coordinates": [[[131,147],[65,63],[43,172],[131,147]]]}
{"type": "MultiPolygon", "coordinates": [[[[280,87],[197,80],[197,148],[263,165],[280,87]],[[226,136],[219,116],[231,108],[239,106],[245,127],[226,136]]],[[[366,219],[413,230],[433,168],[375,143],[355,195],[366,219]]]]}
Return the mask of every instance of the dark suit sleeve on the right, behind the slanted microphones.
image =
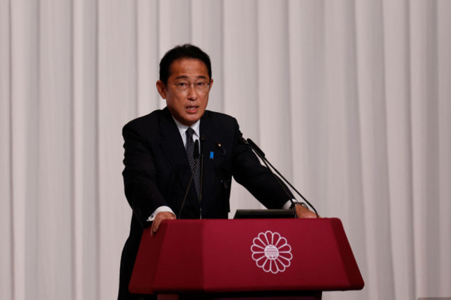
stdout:
{"type": "MultiPolygon", "coordinates": [[[[290,194],[287,195],[277,179],[275,179],[275,175],[260,164],[257,155],[255,155],[249,145],[244,143],[243,135],[236,120],[234,136],[233,177],[235,180],[244,186],[266,208],[282,208],[289,201],[289,196],[293,198],[289,188],[286,188],[286,191],[290,194]]],[[[280,183],[284,185],[282,182],[280,183]]]]}

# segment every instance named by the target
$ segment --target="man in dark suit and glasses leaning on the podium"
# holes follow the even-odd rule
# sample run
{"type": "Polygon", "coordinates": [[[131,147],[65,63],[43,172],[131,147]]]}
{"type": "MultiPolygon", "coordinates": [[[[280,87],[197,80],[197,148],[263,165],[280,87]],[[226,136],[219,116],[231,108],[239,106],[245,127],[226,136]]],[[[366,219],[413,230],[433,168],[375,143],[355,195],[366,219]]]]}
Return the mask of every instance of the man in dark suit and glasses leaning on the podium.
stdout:
{"type": "MultiPolygon", "coordinates": [[[[189,44],[176,46],[162,58],[157,82],[167,107],[124,126],[123,175],[133,216],[121,257],[119,300],[152,299],[128,292],[143,229],[151,226],[155,234],[163,220],[176,218],[228,218],[232,176],[267,208],[289,206],[292,195],[244,143],[237,120],[206,110],[212,85],[208,55],[189,44]],[[188,150],[195,144],[201,145],[202,160],[197,147],[188,150]]],[[[296,211],[301,218],[315,217],[301,205],[296,211]]]]}

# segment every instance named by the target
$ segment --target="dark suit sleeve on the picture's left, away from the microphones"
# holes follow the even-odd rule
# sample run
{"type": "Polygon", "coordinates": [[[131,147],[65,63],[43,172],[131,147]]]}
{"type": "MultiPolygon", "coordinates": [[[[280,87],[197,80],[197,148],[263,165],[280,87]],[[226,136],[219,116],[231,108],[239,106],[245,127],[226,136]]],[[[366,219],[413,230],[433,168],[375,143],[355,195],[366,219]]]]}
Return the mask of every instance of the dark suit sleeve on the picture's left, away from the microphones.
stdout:
{"type": "Polygon", "coordinates": [[[156,183],[156,170],[151,144],[142,127],[128,123],[124,136],[124,188],[133,214],[143,227],[147,218],[159,206],[168,206],[156,183]]]}

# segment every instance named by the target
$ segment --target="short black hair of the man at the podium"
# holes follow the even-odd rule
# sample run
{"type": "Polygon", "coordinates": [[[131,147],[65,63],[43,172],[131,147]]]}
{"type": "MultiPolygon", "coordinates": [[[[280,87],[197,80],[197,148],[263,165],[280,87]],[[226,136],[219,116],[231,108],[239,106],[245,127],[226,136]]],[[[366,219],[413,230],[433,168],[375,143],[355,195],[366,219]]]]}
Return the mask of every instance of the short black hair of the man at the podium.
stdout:
{"type": "Polygon", "coordinates": [[[171,76],[171,64],[174,60],[180,60],[180,58],[194,58],[201,60],[207,67],[208,76],[212,78],[212,63],[210,62],[210,56],[203,52],[201,48],[192,44],[183,44],[175,46],[171,50],[164,54],[160,60],[160,80],[167,85],[167,80],[171,76]]]}

